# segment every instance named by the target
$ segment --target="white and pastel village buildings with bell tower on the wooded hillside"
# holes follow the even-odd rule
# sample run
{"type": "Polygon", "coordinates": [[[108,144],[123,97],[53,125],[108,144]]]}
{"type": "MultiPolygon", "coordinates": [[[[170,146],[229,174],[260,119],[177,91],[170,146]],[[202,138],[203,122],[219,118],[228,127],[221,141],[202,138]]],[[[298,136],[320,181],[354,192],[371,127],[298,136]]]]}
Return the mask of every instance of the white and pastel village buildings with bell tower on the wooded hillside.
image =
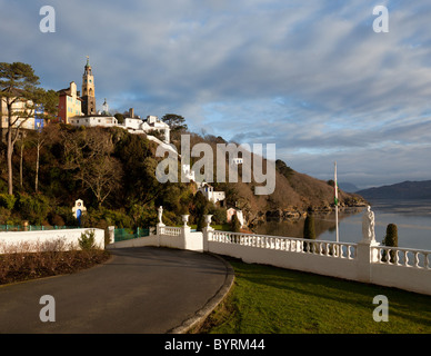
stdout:
{"type": "MultiPolygon", "coordinates": [[[[134,113],[134,109],[130,108],[122,115],[112,115],[109,110],[107,99],[102,105],[102,110],[97,110],[96,99],[96,81],[89,57],[84,66],[82,75],[81,91],[78,90],[76,81],[71,81],[68,88],[57,91],[58,95],[58,116],[54,120],[59,123],[70,125],[76,128],[121,128],[132,135],[144,135],[146,139],[161,145],[167,149],[172,149],[170,145],[170,127],[168,123],[160,120],[157,116],[149,115],[146,119],[134,113]]],[[[1,128],[6,129],[8,125],[8,109],[6,99],[0,100],[0,112],[4,118],[1,122],[1,128]]],[[[44,108],[42,105],[34,105],[31,100],[17,100],[12,105],[13,112],[17,112],[13,127],[30,130],[41,131],[47,126],[47,119],[43,117],[44,108]],[[19,112],[28,111],[29,107],[34,106],[34,109],[26,118],[20,118],[19,112]]],[[[3,131],[3,130],[2,130],[3,131]]],[[[177,151],[176,151],[177,154],[177,151]]],[[[178,155],[178,154],[177,154],[178,155]]],[[[179,155],[178,155],[179,157],[179,155]]],[[[241,164],[241,158],[235,158],[234,164],[241,164]]],[[[182,170],[192,184],[196,184],[198,191],[201,191],[203,197],[214,206],[224,207],[225,192],[214,191],[214,188],[207,182],[196,181],[194,172],[190,165],[183,165],[182,170]]],[[[227,209],[228,222],[232,216],[237,215],[240,225],[245,226],[245,221],[241,210],[235,208],[227,209]]]]}

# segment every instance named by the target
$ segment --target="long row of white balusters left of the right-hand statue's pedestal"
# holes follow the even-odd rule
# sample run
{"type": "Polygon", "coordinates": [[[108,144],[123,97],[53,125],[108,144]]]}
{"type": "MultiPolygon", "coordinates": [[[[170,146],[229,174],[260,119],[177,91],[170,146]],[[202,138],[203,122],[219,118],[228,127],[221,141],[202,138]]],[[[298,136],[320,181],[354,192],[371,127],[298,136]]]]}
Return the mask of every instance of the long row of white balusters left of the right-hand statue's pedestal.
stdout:
{"type": "Polygon", "coordinates": [[[214,230],[210,241],[354,259],[357,244],[214,230]]]}

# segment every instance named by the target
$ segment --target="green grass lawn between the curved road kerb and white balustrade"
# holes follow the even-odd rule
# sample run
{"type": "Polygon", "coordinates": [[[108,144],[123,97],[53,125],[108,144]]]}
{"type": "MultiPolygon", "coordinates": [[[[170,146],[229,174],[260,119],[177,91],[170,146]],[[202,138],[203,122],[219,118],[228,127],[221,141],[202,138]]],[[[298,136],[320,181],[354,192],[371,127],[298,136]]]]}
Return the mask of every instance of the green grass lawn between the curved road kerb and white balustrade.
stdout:
{"type": "Polygon", "coordinates": [[[430,296],[227,259],[234,286],[199,333],[431,334],[430,296]],[[388,297],[387,323],[373,320],[377,295],[388,297]]]}

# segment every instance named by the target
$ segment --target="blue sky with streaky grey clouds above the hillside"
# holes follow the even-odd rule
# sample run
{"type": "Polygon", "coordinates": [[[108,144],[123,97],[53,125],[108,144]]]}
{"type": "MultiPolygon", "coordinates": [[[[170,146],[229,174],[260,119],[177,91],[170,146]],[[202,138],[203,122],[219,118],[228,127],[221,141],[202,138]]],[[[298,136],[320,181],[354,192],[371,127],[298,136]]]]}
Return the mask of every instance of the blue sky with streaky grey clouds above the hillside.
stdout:
{"type": "Polygon", "coordinates": [[[0,0],[0,61],[99,109],[178,113],[190,130],[275,144],[297,171],[359,188],[431,179],[431,2],[0,0]],[[40,31],[43,6],[56,32],[40,31]],[[375,32],[375,6],[389,32],[375,32]],[[4,34],[6,33],[6,34],[4,34]]]}

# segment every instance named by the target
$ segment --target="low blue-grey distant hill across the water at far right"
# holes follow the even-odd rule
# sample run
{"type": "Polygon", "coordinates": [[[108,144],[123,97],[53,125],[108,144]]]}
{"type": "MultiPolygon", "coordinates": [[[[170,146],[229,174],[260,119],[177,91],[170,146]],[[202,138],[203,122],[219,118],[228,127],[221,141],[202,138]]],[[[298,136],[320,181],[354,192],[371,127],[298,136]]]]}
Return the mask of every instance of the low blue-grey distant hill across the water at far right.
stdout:
{"type": "Polygon", "coordinates": [[[431,199],[431,180],[403,181],[357,191],[365,199],[431,199]]]}

